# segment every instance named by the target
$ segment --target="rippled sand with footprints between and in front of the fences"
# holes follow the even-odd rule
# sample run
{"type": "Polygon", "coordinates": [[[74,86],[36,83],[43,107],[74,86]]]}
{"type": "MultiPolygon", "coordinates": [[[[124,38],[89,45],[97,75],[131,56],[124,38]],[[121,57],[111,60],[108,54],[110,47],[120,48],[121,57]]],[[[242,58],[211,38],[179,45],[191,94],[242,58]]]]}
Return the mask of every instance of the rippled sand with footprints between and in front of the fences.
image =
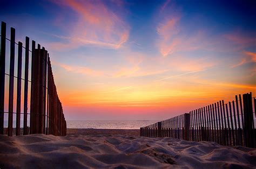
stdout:
{"type": "Polygon", "coordinates": [[[123,134],[127,132],[72,129],[66,137],[0,135],[0,168],[256,168],[253,148],[139,137],[136,130],[123,134]]]}

